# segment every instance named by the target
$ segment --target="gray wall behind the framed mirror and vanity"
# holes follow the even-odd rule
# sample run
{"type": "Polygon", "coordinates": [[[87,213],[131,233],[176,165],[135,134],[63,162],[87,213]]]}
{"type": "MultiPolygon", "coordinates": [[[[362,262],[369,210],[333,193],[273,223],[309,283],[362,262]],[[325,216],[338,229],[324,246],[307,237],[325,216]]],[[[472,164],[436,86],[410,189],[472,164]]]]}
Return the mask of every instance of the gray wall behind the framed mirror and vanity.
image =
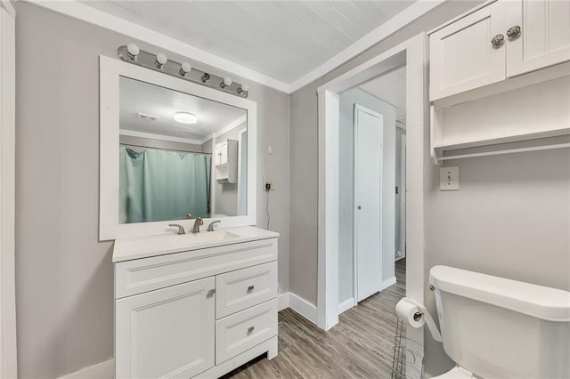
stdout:
{"type": "MultiPolygon", "coordinates": [[[[98,242],[98,57],[115,57],[119,44],[132,41],[162,49],[36,5],[19,2],[16,10],[18,369],[22,378],[53,378],[113,355],[112,243],[98,242]]],[[[279,282],[287,292],[289,96],[248,85],[257,101],[258,177],[273,176],[278,184],[270,210],[272,229],[281,232],[279,282]]],[[[264,195],[258,190],[259,225],[265,225],[264,195]]]]}

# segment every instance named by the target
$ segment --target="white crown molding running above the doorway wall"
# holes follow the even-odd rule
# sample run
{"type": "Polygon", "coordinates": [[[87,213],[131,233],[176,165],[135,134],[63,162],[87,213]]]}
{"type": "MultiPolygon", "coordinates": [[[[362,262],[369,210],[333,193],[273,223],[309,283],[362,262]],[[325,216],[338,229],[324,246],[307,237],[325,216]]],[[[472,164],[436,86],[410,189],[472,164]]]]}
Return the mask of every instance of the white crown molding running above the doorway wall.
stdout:
{"type": "Polygon", "coordinates": [[[396,31],[411,24],[413,20],[418,19],[427,12],[433,10],[437,6],[444,3],[445,0],[430,0],[430,1],[417,1],[404,9],[402,12],[396,14],[390,20],[380,25],[378,28],[372,30],[366,36],[363,36],[358,41],[346,47],[342,52],[338,52],[335,56],[322,63],[318,68],[308,72],[303,77],[299,77],[289,85],[289,93],[294,93],[299,88],[308,85],[314,80],[328,74],[333,69],[338,68],[340,65],[348,60],[353,59],[356,55],[370,49],[374,44],[378,44],[387,36],[394,34],[396,31]]]}

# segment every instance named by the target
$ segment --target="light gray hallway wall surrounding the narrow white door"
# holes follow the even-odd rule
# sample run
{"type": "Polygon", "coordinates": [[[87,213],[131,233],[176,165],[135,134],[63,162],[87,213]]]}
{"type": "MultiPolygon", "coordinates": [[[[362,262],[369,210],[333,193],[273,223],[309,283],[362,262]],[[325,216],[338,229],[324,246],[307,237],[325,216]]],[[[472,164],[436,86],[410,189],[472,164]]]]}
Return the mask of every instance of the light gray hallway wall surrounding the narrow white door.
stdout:
{"type": "MultiPolygon", "coordinates": [[[[382,281],[395,275],[395,107],[354,88],[339,96],[338,121],[338,302],[354,294],[354,104],[384,116],[382,166],[382,281]]],[[[371,162],[373,165],[373,162],[371,162]]]]}

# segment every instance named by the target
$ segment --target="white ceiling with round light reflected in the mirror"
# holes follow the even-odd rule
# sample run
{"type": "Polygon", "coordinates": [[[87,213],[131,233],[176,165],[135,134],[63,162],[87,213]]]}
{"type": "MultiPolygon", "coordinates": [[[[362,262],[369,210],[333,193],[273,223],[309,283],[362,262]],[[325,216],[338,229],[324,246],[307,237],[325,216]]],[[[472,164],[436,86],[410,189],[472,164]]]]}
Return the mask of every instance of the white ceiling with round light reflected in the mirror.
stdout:
{"type": "Polygon", "coordinates": [[[247,117],[245,109],[126,77],[120,78],[119,88],[119,125],[123,130],[202,141],[228,126],[241,124],[247,117]],[[174,120],[176,112],[189,112],[198,117],[198,123],[178,123],[174,120]],[[139,113],[159,118],[142,119],[139,113]]]}

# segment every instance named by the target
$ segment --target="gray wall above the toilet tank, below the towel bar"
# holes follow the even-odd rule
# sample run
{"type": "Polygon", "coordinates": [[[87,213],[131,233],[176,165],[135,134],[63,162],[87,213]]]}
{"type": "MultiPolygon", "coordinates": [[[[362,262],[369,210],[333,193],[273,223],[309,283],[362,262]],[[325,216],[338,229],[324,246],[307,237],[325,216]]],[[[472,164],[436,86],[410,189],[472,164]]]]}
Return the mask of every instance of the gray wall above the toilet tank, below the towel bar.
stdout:
{"type": "MultiPolygon", "coordinates": [[[[445,264],[570,291],[570,149],[448,165],[460,167],[459,191],[439,190],[439,170],[427,178],[426,278],[445,264]]],[[[426,343],[430,374],[452,367],[441,343],[428,334],[426,343]]]]}

